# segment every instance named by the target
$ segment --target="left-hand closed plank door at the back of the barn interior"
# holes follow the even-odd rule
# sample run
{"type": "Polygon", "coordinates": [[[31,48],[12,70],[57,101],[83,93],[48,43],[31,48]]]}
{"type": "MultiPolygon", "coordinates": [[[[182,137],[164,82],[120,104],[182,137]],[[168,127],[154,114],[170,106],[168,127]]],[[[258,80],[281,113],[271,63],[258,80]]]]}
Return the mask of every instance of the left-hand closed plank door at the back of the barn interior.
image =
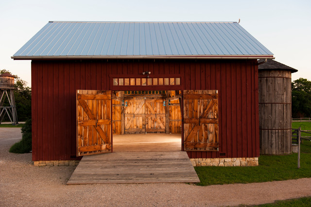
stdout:
{"type": "Polygon", "coordinates": [[[124,133],[145,133],[145,99],[124,99],[124,104],[124,133]]]}

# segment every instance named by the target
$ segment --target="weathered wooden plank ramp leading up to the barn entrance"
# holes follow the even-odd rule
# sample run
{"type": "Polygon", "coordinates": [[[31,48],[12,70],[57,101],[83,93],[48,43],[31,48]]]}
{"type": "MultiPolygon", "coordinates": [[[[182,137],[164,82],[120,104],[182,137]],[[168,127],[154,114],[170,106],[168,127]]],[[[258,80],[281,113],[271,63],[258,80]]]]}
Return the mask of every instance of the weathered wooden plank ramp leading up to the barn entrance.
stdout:
{"type": "Polygon", "coordinates": [[[120,152],[84,156],[67,184],[197,183],[186,152],[120,152]]]}

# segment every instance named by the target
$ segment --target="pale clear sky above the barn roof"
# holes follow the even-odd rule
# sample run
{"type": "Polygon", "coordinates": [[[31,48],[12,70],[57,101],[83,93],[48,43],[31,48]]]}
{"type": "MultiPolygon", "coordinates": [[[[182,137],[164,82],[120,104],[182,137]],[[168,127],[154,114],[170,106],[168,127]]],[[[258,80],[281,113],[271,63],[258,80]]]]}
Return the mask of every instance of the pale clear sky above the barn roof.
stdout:
{"type": "Polygon", "coordinates": [[[311,81],[310,0],[1,0],[0,69],[31,86],[31,60],[16,53],[48,21],[239,21],[275,60],[311,81]],[[260,2],[260,3],[259,3],[260,2]]]}

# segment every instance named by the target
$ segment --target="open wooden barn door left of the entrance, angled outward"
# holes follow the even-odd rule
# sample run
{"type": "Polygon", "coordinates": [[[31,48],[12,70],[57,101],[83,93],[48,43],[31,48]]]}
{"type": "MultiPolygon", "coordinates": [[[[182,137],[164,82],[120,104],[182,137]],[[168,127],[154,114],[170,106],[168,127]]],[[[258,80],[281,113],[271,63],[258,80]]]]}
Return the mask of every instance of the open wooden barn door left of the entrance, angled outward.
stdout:
{"type": "Polygon", "coordinates": [[[111,94],[77,90],[77,156],[111,152],[111,94]]]}

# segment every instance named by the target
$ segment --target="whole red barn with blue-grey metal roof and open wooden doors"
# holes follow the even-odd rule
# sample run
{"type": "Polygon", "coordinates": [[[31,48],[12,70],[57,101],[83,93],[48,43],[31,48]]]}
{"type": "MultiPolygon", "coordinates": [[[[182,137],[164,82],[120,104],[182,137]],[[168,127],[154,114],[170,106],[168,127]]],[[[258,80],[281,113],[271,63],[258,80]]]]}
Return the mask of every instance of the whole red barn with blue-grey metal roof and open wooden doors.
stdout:
{"type": "Polygon", "coordinates": [[[258,164],[258,59],[273,54],[237,22],[49,22],[12,58],[32,60],[34,161],[180,133],[198,166],[258,164]]]}

